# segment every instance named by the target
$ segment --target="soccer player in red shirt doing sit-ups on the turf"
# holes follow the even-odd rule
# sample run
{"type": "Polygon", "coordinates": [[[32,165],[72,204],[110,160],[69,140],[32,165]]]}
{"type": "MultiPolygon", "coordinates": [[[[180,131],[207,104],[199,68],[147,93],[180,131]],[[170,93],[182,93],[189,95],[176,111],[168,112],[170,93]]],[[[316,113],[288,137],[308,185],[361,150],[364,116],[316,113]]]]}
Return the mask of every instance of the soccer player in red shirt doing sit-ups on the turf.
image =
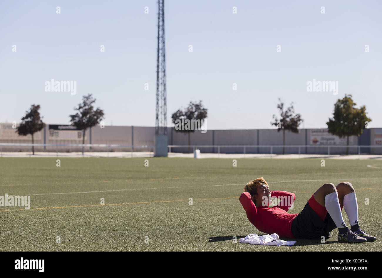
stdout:
{"type": "Polygon", "coordinates": [[[267,182],[261,177],[248,182],[240,196],[240,203],[249,222],[267,234],[320,239],[321,236],[330,238],[330,232],[337,227],[339,242],[376,241],[376,237],[369,236],[359,228],[357,197],[350,182],[341,182],[337,186],[324,184],[312,195],[300,213],[287,213],[295,198],[294,193],[269,191],[267,182]],[[282,201],[270,208],[272,197],[282,201]],[[351,229],[343,221],[343,207],[351,229]]]}

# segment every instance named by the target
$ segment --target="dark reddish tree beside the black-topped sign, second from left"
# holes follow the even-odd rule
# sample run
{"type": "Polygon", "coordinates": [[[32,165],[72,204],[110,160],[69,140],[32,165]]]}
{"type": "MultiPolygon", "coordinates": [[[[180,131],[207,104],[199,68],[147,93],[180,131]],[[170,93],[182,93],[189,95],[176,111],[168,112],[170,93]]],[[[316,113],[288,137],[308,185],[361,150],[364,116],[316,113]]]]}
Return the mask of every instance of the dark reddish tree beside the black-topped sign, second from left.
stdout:
{"type": "MultiPolygon", "coordinates": [[[[94,110],[93,104],[96,99],[92,97],[92,94],[82,97],[82,103],[78,104],[78,107],[74,107],[75,111],[78,111],[74,115],[70,115],[70,122],[76,128],[81,129],[82,143],[85,143],[85,132],[87,128],[94,127],[99,124],[100,120],[104,119],[104,111],[99,109],[94,110]]],[[[84,147],[82,147],[82,154],[84,154],[84,147]]]]}

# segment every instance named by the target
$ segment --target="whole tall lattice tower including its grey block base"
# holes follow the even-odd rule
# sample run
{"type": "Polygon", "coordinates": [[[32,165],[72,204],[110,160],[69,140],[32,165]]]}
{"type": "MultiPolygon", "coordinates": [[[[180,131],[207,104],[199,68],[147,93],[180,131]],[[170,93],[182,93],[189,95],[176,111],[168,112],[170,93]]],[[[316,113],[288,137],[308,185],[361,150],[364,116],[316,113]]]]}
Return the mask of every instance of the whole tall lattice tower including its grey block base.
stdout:
{"type": "Polygon", "coordinates": [[[164,0],[158,0],[157,94],[155,119],[155,156],[167,156],[167,104],[165,60],[164,0]]]}

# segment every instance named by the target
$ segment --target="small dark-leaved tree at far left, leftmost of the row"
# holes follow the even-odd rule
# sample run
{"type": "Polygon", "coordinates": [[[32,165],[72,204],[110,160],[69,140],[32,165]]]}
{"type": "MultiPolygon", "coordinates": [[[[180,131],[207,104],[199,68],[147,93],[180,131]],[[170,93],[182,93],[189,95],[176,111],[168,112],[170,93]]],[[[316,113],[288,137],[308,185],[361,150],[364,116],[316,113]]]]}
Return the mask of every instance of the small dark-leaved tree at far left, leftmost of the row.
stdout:
{"type": "MultiPolygon", "coordinates": [[[[19,135],[32,135],[32,144],[34,144],[33,134],[42,130],[45,127],[44,122],[42,122],[42,117],[40,117],[40,105],[31,105],[31,110],[26,111],[26,115],[21,118],[21,124],[17,128],[19,135]]],[[[34,146],[32,146],[32,152],[34,155],[34,146]]]]}

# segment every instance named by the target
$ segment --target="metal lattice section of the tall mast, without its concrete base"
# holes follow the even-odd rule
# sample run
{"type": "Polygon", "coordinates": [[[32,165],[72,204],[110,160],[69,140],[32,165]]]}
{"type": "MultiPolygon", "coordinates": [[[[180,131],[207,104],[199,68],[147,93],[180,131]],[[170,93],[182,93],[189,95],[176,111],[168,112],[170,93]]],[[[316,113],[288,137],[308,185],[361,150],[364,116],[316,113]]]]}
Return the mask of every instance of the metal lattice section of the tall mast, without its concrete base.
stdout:
{"type": "Polygon", "coordinates": [[[158,1],[157,104],[155,135],[167,134],[165,13],[164,0],[158,1]]]}

